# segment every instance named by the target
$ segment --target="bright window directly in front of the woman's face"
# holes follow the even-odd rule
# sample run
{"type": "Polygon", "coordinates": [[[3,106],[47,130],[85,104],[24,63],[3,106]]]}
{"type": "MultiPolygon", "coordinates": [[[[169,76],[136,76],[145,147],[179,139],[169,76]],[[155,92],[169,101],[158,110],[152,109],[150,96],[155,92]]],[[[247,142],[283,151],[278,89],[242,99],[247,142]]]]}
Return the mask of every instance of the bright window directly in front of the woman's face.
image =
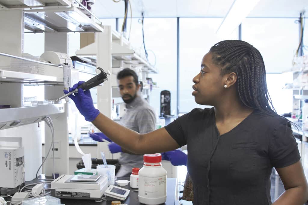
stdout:
{"type": "Polygon", "coordinates": [[[192,94],[193,77],[200,72],[202,57],[217,42],[238,39],[238,29],[229,35],[217,35],[222,18],[180,18],[180,112],[198,105],[192,94]]]}

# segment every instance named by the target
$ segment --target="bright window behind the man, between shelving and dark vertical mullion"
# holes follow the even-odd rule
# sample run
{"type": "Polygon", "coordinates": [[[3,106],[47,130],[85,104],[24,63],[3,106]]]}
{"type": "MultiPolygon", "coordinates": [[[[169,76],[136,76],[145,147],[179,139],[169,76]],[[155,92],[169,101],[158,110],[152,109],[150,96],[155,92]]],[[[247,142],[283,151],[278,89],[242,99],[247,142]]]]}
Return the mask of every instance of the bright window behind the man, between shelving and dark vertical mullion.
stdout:
{"type": "MultiPolygon", "coordinates": [[[[130,19],[127,20],[129,35],[130,19]]],[[[119,19],[119,29],[123,19],[119,19]]],[[[145,18],[144,41],[148,51],[149,62],[158,70],[158,74],[150,74],[158,89],[153,89],[150,104],[160,112],[160,92],[169,90],[171,93],[171,113],[176,114],[176,18],[145,18]]],[[[132,19],[130,34],[132,45],[144,53],[142,24],[139,18],[132,19]]]]}

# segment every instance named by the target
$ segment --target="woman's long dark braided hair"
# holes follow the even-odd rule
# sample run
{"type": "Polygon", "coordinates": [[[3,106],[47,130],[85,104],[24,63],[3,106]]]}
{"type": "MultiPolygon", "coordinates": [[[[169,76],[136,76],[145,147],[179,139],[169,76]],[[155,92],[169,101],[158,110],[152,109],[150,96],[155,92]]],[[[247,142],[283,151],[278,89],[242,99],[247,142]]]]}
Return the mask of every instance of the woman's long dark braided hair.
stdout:
{"type": "Polygon", "coordinates": [[[261,53],[240,40],[220,41],[212,46],[213,62],[221,68],[221,75],[237,75],[237,93],[249,108],[277,116],[266,85],[265,65],[261,53]]]}

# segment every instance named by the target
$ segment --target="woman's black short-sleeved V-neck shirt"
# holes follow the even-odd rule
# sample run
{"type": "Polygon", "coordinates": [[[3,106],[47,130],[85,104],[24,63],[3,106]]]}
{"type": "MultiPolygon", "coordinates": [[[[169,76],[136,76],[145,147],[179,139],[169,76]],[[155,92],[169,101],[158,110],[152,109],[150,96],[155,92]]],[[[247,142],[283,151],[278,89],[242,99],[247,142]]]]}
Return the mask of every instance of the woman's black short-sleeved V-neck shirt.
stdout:
{"type": "Polygon", "coordinates": [[[257,110],[221,136],[214,108],[193,109],[165,129],[180,146],[187,144],[198,205],[271,204],[272,168],[300,160],[288,121],[257,110]]]}

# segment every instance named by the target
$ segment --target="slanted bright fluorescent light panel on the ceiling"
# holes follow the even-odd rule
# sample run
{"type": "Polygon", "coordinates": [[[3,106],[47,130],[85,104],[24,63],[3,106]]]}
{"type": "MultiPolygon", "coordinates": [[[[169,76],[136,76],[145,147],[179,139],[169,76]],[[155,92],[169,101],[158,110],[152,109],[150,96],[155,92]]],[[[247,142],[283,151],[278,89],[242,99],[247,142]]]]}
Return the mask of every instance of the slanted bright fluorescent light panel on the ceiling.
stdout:
{"type": "Polygon", "coordinates": [[[234,0],[216,33],[231,34],[259,1],[260,0],[234,0]]]}

